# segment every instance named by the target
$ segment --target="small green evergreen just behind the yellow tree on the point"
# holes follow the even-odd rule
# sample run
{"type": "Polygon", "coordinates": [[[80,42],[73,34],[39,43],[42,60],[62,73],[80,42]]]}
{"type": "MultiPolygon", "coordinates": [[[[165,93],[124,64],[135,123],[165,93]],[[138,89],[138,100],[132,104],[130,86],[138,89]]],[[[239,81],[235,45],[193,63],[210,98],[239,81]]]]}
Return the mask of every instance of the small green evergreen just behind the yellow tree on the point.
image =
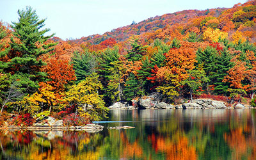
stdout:
{"type": "Polygon", "coordinates": [[[95,72],[97,67],[96,57],[87,50],[82,53],[74,52],[71,61],[76,72],[77,83],[95,72]]]}

